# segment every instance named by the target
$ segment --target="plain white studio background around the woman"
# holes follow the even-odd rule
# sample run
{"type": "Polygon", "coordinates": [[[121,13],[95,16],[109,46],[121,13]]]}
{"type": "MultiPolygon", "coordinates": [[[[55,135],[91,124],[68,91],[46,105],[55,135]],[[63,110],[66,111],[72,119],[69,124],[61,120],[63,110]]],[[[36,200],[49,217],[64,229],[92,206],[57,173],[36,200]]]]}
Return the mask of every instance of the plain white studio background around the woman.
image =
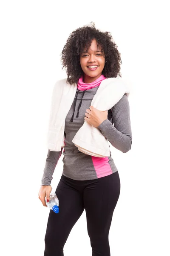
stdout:
{"type": "MultiPolygon", "coordinates": [[[[168,1],[0,2],[0,255],[43,256],[49,209],[38,199],[47,156],[51,93],[65,78],[60,53],[90,21],[110,31],[131,81],[132,148],[111,148],[121,193],[113,213],[111,256],[169,256],[170,40],[168,1]],[[7,199],[8,198],[8,199],[7,199]]],[[[62,175],[62,156],[51,186],[62,175]]],[[[90,256],[85,212],[65,256],[90,256]]]]}

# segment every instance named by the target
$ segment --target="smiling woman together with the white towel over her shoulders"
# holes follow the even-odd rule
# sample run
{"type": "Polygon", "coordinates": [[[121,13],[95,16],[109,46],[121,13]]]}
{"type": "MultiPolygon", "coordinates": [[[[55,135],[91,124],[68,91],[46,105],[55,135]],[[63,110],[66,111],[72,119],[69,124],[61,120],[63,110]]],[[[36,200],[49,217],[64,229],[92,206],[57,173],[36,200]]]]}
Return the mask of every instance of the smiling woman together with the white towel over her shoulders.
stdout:
{"type": "Polygon", "coordinates": [[[64,255],[65,242],[84,210],[92,255],[110,256],[108,235],[120,179],[108,141],[123,153],[132,144],[129,103],[122,80],[117,79],[120,53],[111,33],[92,23],[70,34],[61,61],[67,78],[57,81],[52,95],[48,155],[39,192],[44,206],[63,148],[64,165],[55,191],[59,213],[49,213],[44,256],[64,255]]]}

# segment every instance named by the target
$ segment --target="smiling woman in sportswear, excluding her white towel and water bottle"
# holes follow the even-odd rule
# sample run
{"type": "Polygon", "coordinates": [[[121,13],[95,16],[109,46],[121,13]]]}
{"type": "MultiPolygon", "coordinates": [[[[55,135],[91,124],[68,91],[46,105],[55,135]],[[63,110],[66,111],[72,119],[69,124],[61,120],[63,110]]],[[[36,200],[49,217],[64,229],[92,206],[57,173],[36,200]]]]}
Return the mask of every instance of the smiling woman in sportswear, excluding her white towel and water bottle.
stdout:
{"type": "MultiPolygon", "coordinates": [[[[67,73],[67,82],[76,83],[77,90],[65,118],[64,168],[56,189],[59,214],[50,210],[44,256],[64,255],[64,244],[84,209],[92,255],[110,256],[108,235],[120,194],[118,170],[111,151],[109,157],[94,157],[79,151],[72,140],[86,120],[98,128],[115,148],[124,153],[130,150],[132,132],[127,95],[124,94],[108,111],[99,111],[91,106],[103,80],[121,77],[120,53],[110,32],[101,32],[92,23],[70,34],[62,50],[61,61],[67,73]]],[[[39,199],[44,206],[45,196],[49,200],[52,175],[62,149],[48,149],[39,191],[39,199]]]]}

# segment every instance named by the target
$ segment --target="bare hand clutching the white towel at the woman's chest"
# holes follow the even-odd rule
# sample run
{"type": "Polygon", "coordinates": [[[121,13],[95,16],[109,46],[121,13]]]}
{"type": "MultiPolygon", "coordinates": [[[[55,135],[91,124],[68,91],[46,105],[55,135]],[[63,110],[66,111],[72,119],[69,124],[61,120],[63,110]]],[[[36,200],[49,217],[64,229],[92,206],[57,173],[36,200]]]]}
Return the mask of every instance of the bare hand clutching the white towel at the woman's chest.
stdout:
{"type": "Polygon", "coordinates": [[[90,106],[90,109],[86,109],[85,120],[93,125],[98,127],[104,120],[108,119],[108,111],[100,111],[93,106],[90,106]]]}

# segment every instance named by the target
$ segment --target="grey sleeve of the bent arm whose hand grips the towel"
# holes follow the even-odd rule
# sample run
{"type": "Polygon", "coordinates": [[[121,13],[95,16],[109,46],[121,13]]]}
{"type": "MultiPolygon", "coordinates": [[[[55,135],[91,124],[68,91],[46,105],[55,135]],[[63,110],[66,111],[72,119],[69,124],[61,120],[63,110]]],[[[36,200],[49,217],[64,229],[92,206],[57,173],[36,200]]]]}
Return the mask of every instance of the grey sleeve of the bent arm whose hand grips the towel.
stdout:
{"type": "Polygon", "coordinates": [[[112,119],[113,125],[106,119],[97,128],[113,147],[126,153],[131,149],[132,145],[130,107],[126,94],[113,107],[112,119]]]}

